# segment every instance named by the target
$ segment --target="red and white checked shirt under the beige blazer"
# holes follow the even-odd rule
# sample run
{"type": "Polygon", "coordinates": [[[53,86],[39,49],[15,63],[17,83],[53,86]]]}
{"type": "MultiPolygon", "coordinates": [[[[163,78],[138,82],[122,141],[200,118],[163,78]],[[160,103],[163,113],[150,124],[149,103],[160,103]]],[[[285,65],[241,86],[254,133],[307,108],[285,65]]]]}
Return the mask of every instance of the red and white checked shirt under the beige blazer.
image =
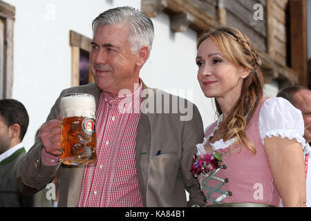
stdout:
{"type": "Polygon", "coordinates": [[[96,115],[97,162],[86,166],[77,206],[143,206],[135,166],[141,91],[142,84],[133,94],[115,99],[102,92],[96,115]]]}

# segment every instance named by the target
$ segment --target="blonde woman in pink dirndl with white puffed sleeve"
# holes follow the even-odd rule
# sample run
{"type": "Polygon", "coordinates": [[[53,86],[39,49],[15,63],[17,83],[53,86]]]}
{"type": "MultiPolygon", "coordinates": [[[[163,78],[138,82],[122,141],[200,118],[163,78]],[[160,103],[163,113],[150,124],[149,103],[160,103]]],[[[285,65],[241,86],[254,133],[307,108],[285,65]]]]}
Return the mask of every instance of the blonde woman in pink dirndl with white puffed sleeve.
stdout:
{"type": "Polygon", "coordinates": [[[285,99],[263,97],[251,41],[236,28],[204,32],[196,64],[219,115],[191,166],[207,206],[305,206],[303,118],[285,99]]]}

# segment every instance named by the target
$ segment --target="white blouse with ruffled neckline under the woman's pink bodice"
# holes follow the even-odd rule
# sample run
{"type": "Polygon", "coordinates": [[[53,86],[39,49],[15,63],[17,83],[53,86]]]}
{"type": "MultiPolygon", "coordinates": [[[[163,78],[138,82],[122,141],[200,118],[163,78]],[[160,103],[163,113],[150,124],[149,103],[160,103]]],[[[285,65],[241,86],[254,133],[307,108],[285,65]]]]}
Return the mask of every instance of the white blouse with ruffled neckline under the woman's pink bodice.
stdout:
{"type": "MultiPolygon", "coordinates": [[[[218,129],[220,122],[223,121],[223,115],[217,120],[217,125],[211,131],[211,134],[207,137],[204,137],[202,144],[196,144],[196,148],[198,149],[197,155],[203,155],[206,153],[204,149],[204,145],[209,140],[209,137],[214,136],[214,132],[218,129]]],[[[205,133],[209,129],[209,126],[205,129],[205,133]]],[[[305,139],[303,138],[304,133],[304,122],[301,111],[287,99],[283,99],[282,97],[274,97],[272,99],[267,99],[265,103],[261,106],[261,110],[259,111],[259,122],[258,129],[261,135],[261,142],[264,145],[265,137],[278,137],[281,135],[282,138],[288,137],[289,140],[296,138],[297,142],[301,143],[304,153],[308,153],[310,148],[305,145],[305,139]]],[[[220,139],[214,143],[210,143],[211,149],[216,151],[220,148],[227,148],[234,142],[236,142],[238,138],[234,137],[226,142],[223,139],[220,139]]]]}

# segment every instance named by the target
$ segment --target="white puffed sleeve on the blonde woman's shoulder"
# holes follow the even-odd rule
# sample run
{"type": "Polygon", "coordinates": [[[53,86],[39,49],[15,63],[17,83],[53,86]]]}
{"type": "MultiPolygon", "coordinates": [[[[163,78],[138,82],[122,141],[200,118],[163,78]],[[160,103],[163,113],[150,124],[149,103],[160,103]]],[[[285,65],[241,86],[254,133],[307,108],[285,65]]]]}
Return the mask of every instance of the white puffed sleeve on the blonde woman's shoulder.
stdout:
{"type": "Polygon", "coordinates": [[[288,137],[290,140],[296,138],[305,148],[303,116],[287,99],[282,97],[267,99],[259,112],[258,128],[263,144],[265,137],[281,135],[282,138],[288,137]]]}

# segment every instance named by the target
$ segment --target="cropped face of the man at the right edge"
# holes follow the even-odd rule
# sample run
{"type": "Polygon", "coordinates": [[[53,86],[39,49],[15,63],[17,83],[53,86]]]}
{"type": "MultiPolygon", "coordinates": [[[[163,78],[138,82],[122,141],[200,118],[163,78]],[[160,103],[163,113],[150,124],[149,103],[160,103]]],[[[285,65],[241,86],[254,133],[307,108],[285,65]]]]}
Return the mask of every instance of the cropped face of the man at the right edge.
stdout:
{"type": "Polygon", "coordinates": [[[305,134],[303,137],[311,142],[311,90],[301,89],[295,95],[295,106],[301,110],[305,122],[305,134]]]}

